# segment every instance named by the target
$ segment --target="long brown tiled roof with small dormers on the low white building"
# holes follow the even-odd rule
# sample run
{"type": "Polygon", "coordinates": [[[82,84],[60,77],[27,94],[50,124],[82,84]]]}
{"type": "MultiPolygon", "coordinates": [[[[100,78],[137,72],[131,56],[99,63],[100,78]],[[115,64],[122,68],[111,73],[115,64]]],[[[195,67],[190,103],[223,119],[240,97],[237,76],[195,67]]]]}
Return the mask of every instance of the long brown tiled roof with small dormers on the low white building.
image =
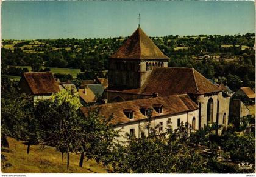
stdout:
{"type": "MultiPolygon", "coordinates": [[[[177,113],[188,112],[198,109],[197,105],[190,99],[190,97],[187,94],[115,102],[110,104],[102,104],[98,107],[99,114],[105,118],[113,116],[113,119],[110,123],[116,125],[146,119],[146,116],[144,116],[140,112],[140,108],[152,108],[153,105],[155,104],[163,105],[163,113],[158,113],[153,109],[152,117],[174,115],[177,113]],[[124,109],[134,111],[133,119],[127,118],[127,116],[124,114],[124,109]]],[[[88,115],[88,112],[90,112],[91,109],[95,108],[96,107],[80,107],[85,116],[88,115]]]]}

